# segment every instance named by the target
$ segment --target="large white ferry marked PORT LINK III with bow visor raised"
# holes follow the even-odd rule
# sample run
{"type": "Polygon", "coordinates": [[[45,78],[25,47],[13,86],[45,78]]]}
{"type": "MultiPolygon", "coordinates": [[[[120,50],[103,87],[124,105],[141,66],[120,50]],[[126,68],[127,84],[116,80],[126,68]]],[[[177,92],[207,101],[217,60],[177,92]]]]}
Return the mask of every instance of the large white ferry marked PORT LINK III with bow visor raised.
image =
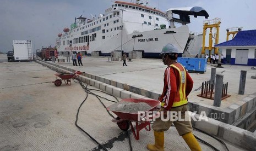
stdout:
{"type": "Polygon", "coordinates": [[[173,8],[163,12],[138,2],[115,1],[105,14],[90,19],[75,18],[70,28],[65,27],[64,33],[58,34],[59,54],[80,51],[83,55],[99,52],[110,56],[113,51],[142,51],[143,57],[157,57],[167,43],[176,45],[181,54],[192,49],[192,45],[200,49],[200,35],[190,33],[187,24],[189,15],[207,19],[209,15],[203,8],[173,8]],[[181,26],[176,27],[175,23],[181,26]]]}

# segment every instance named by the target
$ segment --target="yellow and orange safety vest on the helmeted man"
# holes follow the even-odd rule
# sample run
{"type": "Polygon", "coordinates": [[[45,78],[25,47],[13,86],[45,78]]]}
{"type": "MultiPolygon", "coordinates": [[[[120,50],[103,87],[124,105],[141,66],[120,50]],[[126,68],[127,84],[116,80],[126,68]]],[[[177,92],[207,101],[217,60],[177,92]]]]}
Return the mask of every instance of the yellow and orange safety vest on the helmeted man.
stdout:
{"type": "MultiPolygon", "coordinates": [[[[186,70],[180,63],[173,63],[170,66],[179,72],[179,87],[177,88],[176,97],[172,104],[172,107],[179,107],[188,103],[186,96],[186,70]]],[[[164,104],[165,102],[161,102],[162,107],[164,107],[164,104]]]]}

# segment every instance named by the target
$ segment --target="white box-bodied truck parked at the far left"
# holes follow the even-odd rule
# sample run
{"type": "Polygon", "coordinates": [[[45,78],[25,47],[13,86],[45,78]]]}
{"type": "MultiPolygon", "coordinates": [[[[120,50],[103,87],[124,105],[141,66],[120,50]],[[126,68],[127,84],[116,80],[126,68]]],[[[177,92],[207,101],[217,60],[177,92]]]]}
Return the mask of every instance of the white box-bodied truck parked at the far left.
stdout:
{"type": "Polygon", "coordinates": [[[31,40],[13,40],[14,61],[33,60],[31,40]]]}

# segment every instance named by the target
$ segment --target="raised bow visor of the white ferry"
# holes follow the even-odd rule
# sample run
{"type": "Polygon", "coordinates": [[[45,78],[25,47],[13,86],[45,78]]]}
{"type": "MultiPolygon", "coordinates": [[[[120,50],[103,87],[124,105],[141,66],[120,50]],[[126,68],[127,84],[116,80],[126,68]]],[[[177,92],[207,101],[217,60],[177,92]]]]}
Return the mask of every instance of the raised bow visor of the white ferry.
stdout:
{"type": "Polygon", "coordinates": [[[197,16],[204,16],[205,19],[208,19],[209,14],[206,10],[201,7],[184,7],[184,8],[170,8],[167,10],[168,20],[170,20],[171,28],[175,27],[174,22],[179,22],[182,25],[190,23],[189,16],[192,15],[195,18],[197,16]],[[179,19],[174,18],[173,14],[179,15],[179,19]]]}

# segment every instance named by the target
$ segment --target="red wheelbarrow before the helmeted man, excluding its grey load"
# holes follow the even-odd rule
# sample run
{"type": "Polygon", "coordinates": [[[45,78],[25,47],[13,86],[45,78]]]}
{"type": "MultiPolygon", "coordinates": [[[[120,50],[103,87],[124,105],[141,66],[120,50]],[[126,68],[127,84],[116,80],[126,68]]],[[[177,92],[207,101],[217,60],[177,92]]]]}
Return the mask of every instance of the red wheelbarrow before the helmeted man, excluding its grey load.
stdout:
{"type": "MultiPolygon", "coordinates": [[[[159,101],[157,100],[144,100],[144,99],[135,99],[135,98],[127,98],[124,99],[120,102],[117,103],[127,103],[127,102],[132,102],[132,103],[139,103],[139,102],[144,102],[146,104],[148,104],[150,106],[150,108],[146,109],[146,111],[141,111],[141,112],[149,112],[149,111],[154,111],[155,109],[157,109],[157,106],[159,105],[159,101]]],[[[112,106],[115,106],[115,104],[112,104],[111,106],[107,107],[108,111],[111,111],[113,113],[115,113],[117,115],[117,118],[114,118],[112,121],[117,123],[118,127],[123,130],[123,131],[127,131],[130,127],[130,129],[132,129],[133,132],[133,136],[135,138],[135,140],[139,140],[139,131],[142,129],[145,129],[146,131],[150,131],[150,121],[148,120],[140,120],[139,119],[139,112],[137,113],[130,113],[127,111],[114,111],[112,108],[112,106]],[[135,130],[133,127],[132,122],[135,122],[135,130]]]]}

